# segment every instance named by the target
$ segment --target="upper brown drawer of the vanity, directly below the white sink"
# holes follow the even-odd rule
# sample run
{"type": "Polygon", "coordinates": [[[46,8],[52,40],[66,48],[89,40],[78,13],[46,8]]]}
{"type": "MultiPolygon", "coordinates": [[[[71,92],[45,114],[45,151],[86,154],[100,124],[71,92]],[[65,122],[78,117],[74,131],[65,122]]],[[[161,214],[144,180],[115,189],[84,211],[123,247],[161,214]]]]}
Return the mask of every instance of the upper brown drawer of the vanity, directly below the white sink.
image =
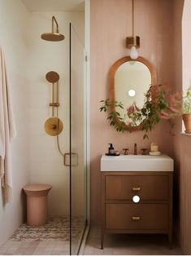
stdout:
{"type": "Polygon", "coordinates": [[[141,200],[167,201],[169,197],[168,175],[106,175],[106,200],[132,200],[138,195],[141,200]]]}

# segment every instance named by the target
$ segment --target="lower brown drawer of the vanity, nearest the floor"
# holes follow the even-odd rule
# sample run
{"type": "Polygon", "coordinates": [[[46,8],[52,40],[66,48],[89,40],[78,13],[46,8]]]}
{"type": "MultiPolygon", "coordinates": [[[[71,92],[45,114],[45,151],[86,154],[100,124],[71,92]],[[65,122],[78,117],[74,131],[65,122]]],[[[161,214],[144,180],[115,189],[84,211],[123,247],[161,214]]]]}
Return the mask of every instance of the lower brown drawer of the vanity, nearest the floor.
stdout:
{"type": "Polygon", "coordinates": [[[167,204],[106,204],[106,229],[167,230],[167,204]]]}

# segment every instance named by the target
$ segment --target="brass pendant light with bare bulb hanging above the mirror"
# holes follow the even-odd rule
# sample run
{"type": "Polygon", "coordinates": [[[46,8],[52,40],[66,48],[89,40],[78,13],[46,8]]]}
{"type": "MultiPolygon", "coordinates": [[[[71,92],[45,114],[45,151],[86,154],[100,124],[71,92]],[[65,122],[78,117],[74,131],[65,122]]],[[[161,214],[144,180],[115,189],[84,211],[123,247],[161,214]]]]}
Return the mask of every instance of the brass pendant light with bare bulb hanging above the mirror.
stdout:
{"type": "Polygon", "coordinates": [[[140,37],[134,34],[134,0],[132,0],[132,36],[126,38],[127,47],[131,49],[130,57],[132,60],[136,60],[139,56],[137,48],[140,47],[140,37]]]}

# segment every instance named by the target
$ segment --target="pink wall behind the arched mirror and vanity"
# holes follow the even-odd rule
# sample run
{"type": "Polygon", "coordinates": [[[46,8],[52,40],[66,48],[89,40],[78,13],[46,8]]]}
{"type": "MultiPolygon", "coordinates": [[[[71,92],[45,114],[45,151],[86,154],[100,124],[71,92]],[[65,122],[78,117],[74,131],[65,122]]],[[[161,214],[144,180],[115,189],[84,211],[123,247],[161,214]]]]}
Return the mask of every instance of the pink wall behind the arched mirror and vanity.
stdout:
{"type": "MultiPolygon", "coordinates": [[[[135,1],[135,32],[141,37],[140,55],[150,60],[157,70],[158,83],[173,86],[173,58],[171,55],[173,0],[135,1]]],[[[109,70],[111,65],[129,51],[125,38],[131,35],[131,0],[91,0],[91,221],[100,220],[100,159],[108,143],[115,149],[130,148],[137,143],[138,150],[149,148],[156,141],[159,149],[173,156],[173,139],[168,134],[166,122],[158,125],[143,140],[141,131],[117,133],[109,126],[106,115],[99,112],[100,100],[109,95],[109,70]]]]}

